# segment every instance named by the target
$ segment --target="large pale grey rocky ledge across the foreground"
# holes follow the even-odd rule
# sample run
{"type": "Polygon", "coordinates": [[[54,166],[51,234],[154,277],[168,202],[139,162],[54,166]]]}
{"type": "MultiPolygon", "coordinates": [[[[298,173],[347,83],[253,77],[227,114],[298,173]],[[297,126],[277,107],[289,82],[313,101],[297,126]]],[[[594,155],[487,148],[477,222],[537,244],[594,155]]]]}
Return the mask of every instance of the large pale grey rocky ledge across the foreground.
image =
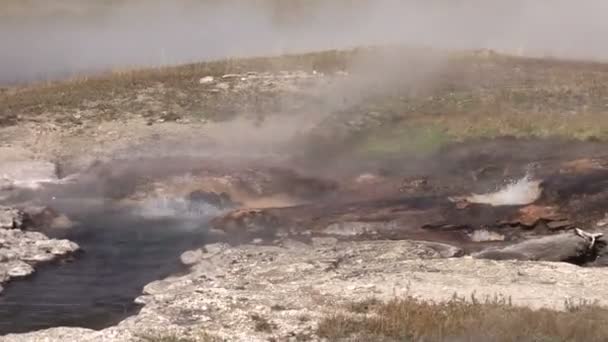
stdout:
{"type": "Polygon", "coordinates": [[[188,251],[186,275],[150,283],[138,315],[101,331],[53,328],[1,341],[316,341],[322,317],[367,298],[447,300],[502,294],[515,305],[563,308],[608,298],[608,269],[568,263],[457,257],[420,241],[285,240],[274,246],[207,245],[188,251]],[[211,337],[211,338],[210,338],[211,337]]]}

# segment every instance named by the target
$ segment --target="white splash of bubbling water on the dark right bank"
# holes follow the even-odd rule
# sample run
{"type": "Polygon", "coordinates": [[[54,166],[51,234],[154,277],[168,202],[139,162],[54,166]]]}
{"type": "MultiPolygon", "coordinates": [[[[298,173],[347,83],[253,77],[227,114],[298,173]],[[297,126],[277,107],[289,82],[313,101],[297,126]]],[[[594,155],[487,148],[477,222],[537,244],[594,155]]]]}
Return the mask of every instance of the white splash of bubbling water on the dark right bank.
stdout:
{"type": "Polygon", "coordinates": [[[471,203],[500,205],[526,205],[536,201],[542,192],[540,181],[532,180],[529,175],[507,184],[504,188],[488,194],[472,194],[467,197],[471,203]]]}

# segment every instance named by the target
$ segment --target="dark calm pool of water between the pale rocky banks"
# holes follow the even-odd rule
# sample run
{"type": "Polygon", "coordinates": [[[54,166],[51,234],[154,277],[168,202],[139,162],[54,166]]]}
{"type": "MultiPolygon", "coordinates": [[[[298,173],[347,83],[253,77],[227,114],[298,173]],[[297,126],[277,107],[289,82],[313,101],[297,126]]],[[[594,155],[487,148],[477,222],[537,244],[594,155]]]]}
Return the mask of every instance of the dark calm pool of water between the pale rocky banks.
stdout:
{"type": "Polygon", "coordinates": [[[66,238],[83,253],[44,265],[0,294],[0,334],[54,326],[101,329],[139,309],[147,283],[183,270],[179,255],[205,242],[205,222],[87,213],[66,238]]]}

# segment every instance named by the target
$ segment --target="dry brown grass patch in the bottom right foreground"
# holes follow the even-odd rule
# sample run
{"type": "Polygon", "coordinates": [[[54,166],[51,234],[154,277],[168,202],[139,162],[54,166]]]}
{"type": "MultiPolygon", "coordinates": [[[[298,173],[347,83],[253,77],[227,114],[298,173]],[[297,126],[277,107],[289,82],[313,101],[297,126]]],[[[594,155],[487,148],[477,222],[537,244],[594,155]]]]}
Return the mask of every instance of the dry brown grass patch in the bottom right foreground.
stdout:
{"type": "Polygon", "coordinates": [[[331,341],[607,341],[608,309],[566,303],[565,311],[516,307],[505,298],[445,303],[415,298],[366,301],[325,318],[331,341]]]}

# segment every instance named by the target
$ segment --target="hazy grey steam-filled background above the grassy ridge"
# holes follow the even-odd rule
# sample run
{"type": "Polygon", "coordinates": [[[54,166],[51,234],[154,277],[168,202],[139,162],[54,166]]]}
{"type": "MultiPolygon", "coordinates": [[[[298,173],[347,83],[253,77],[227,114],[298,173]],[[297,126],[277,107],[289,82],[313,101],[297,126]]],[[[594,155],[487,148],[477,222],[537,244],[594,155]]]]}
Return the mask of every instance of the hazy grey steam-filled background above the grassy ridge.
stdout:
{"type": "Polygon", "coordinates": [[[372,44],[608,59],[604,0],[0,0],[0,84],[372,44]]]}

